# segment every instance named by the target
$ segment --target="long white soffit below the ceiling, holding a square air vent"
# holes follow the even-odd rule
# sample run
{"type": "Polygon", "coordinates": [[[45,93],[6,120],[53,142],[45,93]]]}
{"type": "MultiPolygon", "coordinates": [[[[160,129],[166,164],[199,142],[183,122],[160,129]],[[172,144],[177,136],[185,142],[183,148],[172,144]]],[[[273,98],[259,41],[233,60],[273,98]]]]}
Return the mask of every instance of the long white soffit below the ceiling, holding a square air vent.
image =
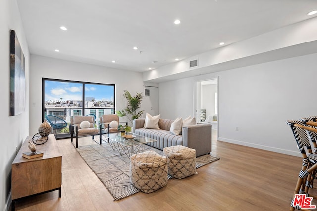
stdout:
{"type": "Polygon", "coordinates": [[[146,71],[143,79],[164,82],[317,53],[316,31],[317,17],[314,17],[146,71]],[[189,62],[195,59],[198,59],[198,67],[189,68],[189,62]]]}

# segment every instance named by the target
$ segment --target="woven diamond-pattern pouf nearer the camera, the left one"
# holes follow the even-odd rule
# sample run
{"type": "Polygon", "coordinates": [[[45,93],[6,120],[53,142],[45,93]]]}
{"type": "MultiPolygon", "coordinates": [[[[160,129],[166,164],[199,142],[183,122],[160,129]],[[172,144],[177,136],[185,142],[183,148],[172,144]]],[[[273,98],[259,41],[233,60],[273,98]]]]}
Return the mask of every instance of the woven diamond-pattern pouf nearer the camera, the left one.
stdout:
{"type": "Polygon", "coordinates": [[[153,151],[133,154],[130,158],[130,181],[144,193],[167,184],[167,158],[153,151]]]}

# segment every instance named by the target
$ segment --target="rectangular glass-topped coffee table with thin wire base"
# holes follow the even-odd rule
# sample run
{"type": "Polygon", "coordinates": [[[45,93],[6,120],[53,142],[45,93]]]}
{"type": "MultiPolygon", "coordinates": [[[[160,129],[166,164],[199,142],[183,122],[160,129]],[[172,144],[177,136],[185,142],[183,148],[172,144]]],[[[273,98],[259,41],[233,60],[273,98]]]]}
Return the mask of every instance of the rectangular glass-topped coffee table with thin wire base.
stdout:
{"type": "MultiPolygon", "coordinates": [[[[144,144],[157,142],[157,140],[137,135],[134,133],[122,134],[110,133],[106,135],[108,143],[113,150],[119,151],[120,155],[126,154],[129,158],[135,153],[144,151],[144,144]]],[[[150,146],[151,147],[151,146],[150,146]]]]}

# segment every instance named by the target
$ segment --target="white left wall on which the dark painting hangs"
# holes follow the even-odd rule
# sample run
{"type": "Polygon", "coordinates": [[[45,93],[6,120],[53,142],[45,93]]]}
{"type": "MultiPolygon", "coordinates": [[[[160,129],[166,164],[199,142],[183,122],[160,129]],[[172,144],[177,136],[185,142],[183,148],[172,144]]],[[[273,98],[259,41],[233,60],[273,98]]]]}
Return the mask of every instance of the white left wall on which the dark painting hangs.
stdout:
{"type": "Polygon", "coordinates": [[[0,1],[0,69],[1,69],[1,153],[0,153],[0,210],[7,210],[11,189],[11,164],[15,158],[15,148],[21,146],[28,135],[29,123],[29,50],[16,0],[0,1]],[[26,106],[25,111],[17,116],[9,116],[10,72],[9,72],[9,35],[15,30],[25,56],[26,65],[26,106]]]}

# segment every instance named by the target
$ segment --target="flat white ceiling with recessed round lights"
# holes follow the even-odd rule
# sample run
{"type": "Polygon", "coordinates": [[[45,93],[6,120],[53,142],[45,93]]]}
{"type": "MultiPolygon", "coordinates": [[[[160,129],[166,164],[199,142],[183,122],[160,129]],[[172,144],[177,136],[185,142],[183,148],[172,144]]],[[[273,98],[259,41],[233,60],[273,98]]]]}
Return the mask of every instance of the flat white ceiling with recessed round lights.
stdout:
{"type": "Polygon", "coordinates": [[[31,54],[140,72],[316,17],[306,14],[317,9],[317,0],[17,2],[31,54]]]}

